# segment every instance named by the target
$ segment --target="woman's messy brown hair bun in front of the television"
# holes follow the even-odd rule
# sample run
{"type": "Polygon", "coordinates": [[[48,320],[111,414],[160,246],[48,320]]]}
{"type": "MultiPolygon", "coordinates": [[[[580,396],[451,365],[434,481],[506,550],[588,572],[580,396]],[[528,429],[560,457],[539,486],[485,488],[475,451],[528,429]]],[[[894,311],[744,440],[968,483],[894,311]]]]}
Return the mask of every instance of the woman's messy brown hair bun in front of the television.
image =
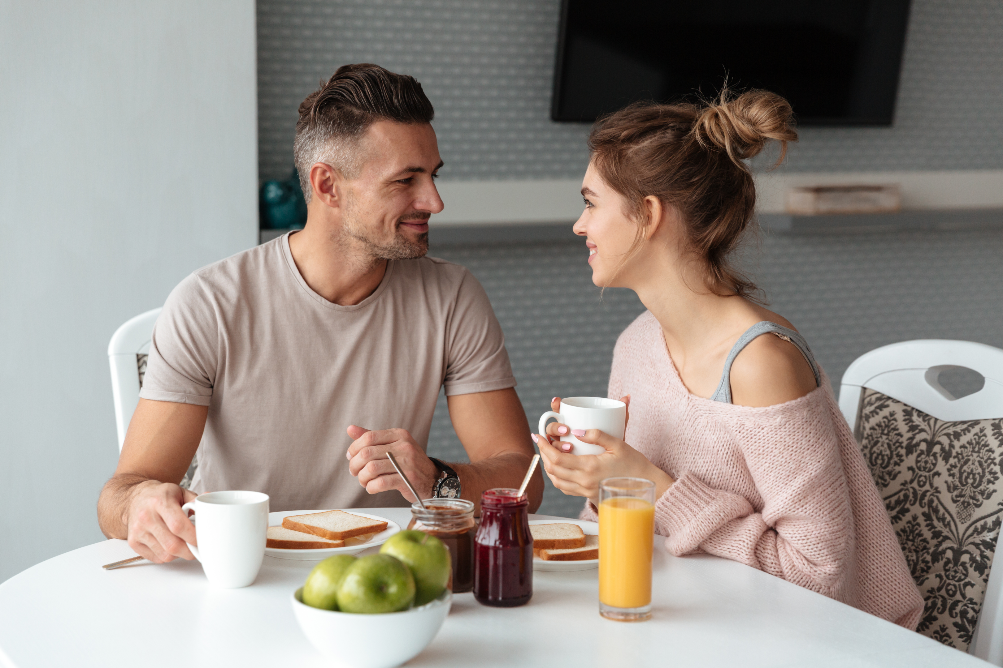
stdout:
{"type": "Polygon", "coordinates": [[[717,99],[709,101],[693,123],[693,136],[705,148],[727,152],[736,164],[754,157],[766,142],[780,143],[776,164],[783,161],[788,141],[797,141],[790,103],[768,90],[749,90],[735,95],[725,86],[717,99]]]}

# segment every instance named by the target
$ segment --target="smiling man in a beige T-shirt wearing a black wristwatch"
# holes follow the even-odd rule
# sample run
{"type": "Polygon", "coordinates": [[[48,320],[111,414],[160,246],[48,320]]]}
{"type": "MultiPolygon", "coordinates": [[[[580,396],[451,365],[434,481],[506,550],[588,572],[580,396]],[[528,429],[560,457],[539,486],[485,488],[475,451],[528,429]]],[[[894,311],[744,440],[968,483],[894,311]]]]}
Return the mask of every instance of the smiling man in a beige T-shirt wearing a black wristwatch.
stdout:
{"type": "MultiPolygon", "coordinates": [[[[303,101],[306,227],[168,297],[98,500],[106,536],[192,559],[181,506],[213,490],[265,492],[273,511],[406,505],[388,452],[425,498],[519,485],[534,451],[500,327],[466,269],[424,256],[443,207],[432,116],[417,81],[371,64],[303,101]],[[443,385],[469,464],[424,452],[443,385]],[[190,492],[178,483],[197,452],[190,492]]],[[[539,471],[529,494],[536,509],[539,471]]]]}

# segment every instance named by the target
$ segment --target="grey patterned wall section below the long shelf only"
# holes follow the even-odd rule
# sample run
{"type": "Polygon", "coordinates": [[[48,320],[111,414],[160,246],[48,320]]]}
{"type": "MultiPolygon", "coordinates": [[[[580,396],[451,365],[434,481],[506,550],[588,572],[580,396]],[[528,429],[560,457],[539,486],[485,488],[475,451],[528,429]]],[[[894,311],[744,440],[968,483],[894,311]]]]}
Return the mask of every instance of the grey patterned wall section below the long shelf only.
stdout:
{"type": "MultiPolygon", "coordinates": [[[[487,290],[531,427],[555,395],[606,396],[617,336],[644,306],[622,289],[606,290],[600,301],[581,240],[435,247],[433,238],[431,254],[469,267],[487,290]]],[[[770,234],[749,257],[770,307],[804,335],[834,386],[858,357],[900,341],[1003,348],[1003,227],[770,234]]],[[[465,461],[441,397],[428,446],[442,459],[465,461]]],[[[547,484],[541,512],[578,513],[580,499],[547,484]]]]}

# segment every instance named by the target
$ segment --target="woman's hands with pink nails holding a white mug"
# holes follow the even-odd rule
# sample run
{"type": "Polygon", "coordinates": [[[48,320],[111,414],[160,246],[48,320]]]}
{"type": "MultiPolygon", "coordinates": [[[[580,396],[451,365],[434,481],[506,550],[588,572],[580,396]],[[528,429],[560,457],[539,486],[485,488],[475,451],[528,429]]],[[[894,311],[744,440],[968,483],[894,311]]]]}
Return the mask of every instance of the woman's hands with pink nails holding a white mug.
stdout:
{"type": "MultiPolygon", "coordinates": [[[[620,401],[630,406],[630,397],[620,401]]],[[[560,408],[561,399],[555,398],[552,410],[557,413],[560,408]]],[[[554,487],[570,496],[586,497],[593,505],[598,506],[599,483],[607,478],[646,478],[655,483],[656,499],[675,482],[628,444],[597,429],[572,431],[567,425],[552,423],[547,426],[547,434],[556,439],[554,444],[545,435],[534,435],[533,439],[540,447],[544,471],[554,487]],[[583,443],[602,446],[606,452],[602,455],[572,455],[572,444],[560,440],[568,435],[583,443]]]]}

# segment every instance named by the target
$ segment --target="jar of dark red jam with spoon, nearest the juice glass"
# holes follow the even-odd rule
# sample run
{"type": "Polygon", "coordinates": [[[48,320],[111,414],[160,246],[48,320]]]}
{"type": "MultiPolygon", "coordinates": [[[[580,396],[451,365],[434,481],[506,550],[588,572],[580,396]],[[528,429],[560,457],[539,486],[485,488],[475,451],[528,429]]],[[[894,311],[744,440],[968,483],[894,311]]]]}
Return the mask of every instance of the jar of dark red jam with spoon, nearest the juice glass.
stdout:
{"type": "Polygon", "coordinates": [[[473,597],[511,608],[533,598],[533,534],[529,498],[519,490],[487,490],[480,497],[480,527],[473,540],[473,597]]]}

